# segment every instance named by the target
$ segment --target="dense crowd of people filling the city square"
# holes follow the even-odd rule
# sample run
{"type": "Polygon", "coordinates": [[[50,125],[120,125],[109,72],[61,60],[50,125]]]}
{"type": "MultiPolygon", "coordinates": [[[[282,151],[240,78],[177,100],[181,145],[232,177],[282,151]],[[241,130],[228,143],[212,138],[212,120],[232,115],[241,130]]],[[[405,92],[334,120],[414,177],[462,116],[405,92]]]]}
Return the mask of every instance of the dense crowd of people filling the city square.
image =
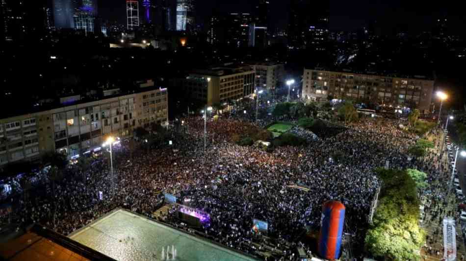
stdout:
{"type": "MultiPolygon", "coordinates": [[[[271,153],[229,142],[232,133],[257,130],[235,119],[209,120],[204,151],[204,120],[183,119],[183,127],[169,134],[173,146],[139,151],[131,158],[122,142],[114,153],[113,176],[105,160],[85,173],[72,166],[48,189],[51,193],[22,198],[13,221],[40,222],[68,235],[116,207],[151,216],[163,201],[157,192],[165,191],[181,202],[189,198],[191,207],[210,215],[206,237],[256,254],[253,218],[268,222],[268,236],[276,238],[272,250],[282,249],[285,242],[300,244],[306,231],[318,230],[322,204],[339,200],[346,206],[345,232],[355,234],[366,225],[379,187],[374,170],[387,162],[390,168],[422,165],[407,155],[415,136],[388,119],[362,120],[333,137],[271,153]]],[[[180,223],[175,214],[167,221],[180,223]]],[[[278,256],[290,257],[292,251],[284,249],[278,256]]]]}

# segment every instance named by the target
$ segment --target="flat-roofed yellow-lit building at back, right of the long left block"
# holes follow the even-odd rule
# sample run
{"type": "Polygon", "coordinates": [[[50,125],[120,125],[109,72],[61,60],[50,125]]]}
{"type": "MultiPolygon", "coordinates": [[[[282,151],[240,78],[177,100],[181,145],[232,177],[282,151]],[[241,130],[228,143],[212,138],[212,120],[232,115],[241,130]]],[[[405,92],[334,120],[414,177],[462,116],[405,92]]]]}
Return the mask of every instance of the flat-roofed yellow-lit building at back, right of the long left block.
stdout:
{"type": "Polygon", "coordinates": [[[255,71],[249,66],[215,67],[194,71],[175,84],[193,100],[212,105],[252,95],[255,71]]]}

